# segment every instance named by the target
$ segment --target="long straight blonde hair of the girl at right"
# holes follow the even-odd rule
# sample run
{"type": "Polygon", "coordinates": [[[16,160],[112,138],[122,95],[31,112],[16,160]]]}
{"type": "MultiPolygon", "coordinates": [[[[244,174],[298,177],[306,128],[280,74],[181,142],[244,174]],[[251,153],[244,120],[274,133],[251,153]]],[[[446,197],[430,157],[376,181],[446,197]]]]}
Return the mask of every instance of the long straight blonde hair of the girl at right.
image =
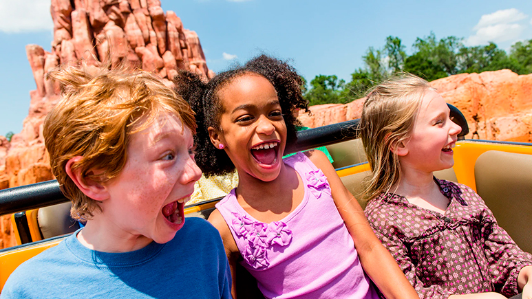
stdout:
{"type": "Polygon", "coordinates": [[[374,199],[401,179],[396,148],[411,136],[421,99],[430,87],[427,80],[401,74],[371,89],[364,102],[360,137],[372,175],[365,189],[365,199],[374,199]]]}

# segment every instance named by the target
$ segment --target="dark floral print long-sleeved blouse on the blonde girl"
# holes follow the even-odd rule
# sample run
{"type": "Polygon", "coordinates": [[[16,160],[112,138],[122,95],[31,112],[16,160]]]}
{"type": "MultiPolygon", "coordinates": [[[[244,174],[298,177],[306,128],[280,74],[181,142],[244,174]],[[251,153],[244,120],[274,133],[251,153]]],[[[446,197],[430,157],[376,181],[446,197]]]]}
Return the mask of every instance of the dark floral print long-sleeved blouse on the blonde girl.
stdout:
{"type": "Polygon", "coordinates": [[[435,179],[450,200],[445,214],[383,193],[365,213],[383,245],[403,269],[420,298],[497,291],[518,293],[520,269],[532,255],[520,250],[499,227],[471,188],[435,179]]]}

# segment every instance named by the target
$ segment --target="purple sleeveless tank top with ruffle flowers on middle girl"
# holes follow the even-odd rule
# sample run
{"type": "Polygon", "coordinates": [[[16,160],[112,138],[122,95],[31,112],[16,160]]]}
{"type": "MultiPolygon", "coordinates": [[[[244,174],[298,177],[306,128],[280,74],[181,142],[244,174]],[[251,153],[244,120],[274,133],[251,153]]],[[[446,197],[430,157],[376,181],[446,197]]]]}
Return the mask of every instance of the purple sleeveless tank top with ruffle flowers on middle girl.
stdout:
{"type": "Polygon", "coordinates": [[[284,159],[305,186],[303,201],[281,221],[257,221],[235,189],[216,208],[266,298],[379,298],[321,170],[303,153],[284,159]]]}

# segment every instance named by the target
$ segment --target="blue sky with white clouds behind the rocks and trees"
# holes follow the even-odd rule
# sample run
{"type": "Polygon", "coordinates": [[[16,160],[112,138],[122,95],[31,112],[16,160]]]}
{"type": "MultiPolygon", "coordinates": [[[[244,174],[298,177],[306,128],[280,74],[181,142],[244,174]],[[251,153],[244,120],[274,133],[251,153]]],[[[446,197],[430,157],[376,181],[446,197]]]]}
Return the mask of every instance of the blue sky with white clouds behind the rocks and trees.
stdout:
{"type": "MultiPolygon", "coordinates": [[[[194,30],[215,72],[262,52],[290,59],[308,81],[346,81],[368,47],[398,36],[407,54],[417,37],[458,36],[466,45],[509,49],[532,38],[530,0],[162,0],[194,30]]],[[[25,45],[50,51],[50,0],[0,0],[0,135],[19,133],[36,89],[25,45]]]]}

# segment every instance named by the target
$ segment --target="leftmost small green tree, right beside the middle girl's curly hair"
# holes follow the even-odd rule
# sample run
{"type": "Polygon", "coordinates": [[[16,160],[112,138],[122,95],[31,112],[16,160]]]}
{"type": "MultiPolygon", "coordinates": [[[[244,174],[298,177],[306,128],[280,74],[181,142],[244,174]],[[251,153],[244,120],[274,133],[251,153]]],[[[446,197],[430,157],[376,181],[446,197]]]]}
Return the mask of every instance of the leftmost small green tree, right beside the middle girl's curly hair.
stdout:
{"type": "Polygon", "coordinates": [[[345,85],[344,80],[338,80],[336,75],[318,75],[310,81],[310,89],[306,90],[304,97],[310,105],[344,103],[341,91],[345,85]]]}

